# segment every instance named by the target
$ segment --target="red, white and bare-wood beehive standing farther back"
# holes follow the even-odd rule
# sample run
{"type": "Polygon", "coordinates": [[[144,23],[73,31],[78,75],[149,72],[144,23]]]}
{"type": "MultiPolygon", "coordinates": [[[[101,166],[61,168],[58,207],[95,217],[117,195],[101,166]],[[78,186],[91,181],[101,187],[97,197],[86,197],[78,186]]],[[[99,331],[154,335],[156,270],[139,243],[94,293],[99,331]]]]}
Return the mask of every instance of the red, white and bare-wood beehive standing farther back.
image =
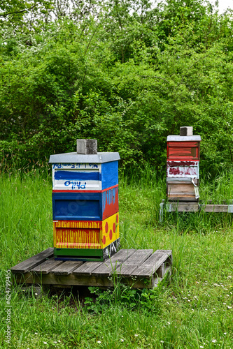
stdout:
{"type": "Polygon", "coordinates": [[[181,135],[168,136],[168,200],[198,201],[200,142],[199,135],[192,135],[192,127],[181,127],[181,135]]]}

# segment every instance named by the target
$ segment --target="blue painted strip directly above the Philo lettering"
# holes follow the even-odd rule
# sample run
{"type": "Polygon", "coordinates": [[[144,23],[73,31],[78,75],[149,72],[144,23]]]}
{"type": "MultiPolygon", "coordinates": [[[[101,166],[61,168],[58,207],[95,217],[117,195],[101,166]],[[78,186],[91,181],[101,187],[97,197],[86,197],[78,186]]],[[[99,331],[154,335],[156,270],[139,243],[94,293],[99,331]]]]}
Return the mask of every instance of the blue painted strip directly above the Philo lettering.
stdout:
{"type": "Polygon", "coordinates": [[[66,181],[101,181],[99,172],[78,172],[78,171],[55,171],[55,180],[64,179],[66,181]]]}

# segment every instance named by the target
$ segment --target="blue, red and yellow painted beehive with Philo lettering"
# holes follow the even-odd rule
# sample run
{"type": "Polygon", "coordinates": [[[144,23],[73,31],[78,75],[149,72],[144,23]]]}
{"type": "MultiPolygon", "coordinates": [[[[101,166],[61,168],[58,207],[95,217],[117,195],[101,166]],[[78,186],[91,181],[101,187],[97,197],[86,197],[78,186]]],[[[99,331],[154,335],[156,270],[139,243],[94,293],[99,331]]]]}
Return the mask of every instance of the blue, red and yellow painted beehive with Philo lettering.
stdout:
{"type": "Polygon", "coordinates": [[[118,251],[118,160],[97,151],[50,156],[55,259],[102,261],[118,251]]]}

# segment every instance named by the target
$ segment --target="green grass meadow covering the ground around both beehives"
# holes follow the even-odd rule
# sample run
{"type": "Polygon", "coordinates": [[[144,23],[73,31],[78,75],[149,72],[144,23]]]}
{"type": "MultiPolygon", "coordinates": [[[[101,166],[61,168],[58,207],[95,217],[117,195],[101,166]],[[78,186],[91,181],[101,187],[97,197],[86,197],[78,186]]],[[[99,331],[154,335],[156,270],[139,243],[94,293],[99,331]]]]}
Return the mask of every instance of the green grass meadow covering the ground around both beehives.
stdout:
{"type": "MultiPolygon", "coordinates": [[[[202,200],[230,200],[233,175],[200,187],[202,200]]],[[[1,348],[233,348],[232,215],[167,213],[160,224],[165,181],[150,168],[120,180],[120,237],[122,248],[173,250],[171,283],[155,290],[151,309],[115,292],[93,313],[69,293],[36,298],[12,287],[4,343],[5,270],[52,246],[51,191],[50,177],[36,172],[1,176],[1,348]]]]}

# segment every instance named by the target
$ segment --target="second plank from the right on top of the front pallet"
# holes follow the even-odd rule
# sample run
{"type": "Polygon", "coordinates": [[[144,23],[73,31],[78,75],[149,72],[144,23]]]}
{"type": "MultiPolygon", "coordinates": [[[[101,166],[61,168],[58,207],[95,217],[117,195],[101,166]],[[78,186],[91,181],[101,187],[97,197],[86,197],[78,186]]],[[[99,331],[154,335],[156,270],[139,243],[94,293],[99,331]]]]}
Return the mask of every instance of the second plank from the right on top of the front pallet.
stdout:
{"type": "Polygon", "coordinates": [[[123,277],[131,276],[132,272],[143,264],[145,260],[153,253],[153,249],[150,250],[136,250],[125,262],[122,263],[117,269],[116,272],[123,277]]]}

